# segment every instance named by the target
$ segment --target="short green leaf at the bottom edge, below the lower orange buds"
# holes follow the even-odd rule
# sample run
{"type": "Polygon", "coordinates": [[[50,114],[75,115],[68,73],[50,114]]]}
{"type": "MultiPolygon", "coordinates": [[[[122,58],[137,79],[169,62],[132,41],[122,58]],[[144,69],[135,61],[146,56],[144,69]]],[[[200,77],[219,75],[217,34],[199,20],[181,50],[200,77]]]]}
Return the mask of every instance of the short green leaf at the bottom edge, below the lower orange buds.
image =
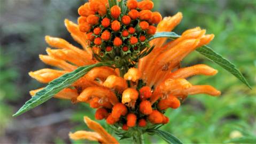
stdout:
{"type": "Polygon", "coordinates": [[[174,135],[166,132],[166,131],[161,131],[161,130],[156,130],[156,129],[152,129],[150,130],[148,133],[150,134],[157,134],[159,137],[161,137],[162,139],[164,139],[166,142],[168,143],[172,143],[172,144],[182,144],[182,142],[176,138],[174,135]]]}

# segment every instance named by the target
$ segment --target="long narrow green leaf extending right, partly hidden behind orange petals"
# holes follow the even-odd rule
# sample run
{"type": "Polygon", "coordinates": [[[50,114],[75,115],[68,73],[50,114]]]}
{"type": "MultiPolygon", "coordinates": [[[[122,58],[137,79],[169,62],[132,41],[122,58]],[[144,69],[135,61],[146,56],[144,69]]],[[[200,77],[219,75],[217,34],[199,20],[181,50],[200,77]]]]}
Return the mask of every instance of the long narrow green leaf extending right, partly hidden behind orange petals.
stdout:
{"type": "MultiPolygon", "coordinates": [[[[154,38],[159,38],[159,37],[167,37],[167,38],[170,38],[170,39],[176,39],[176,38],[179,38],[181,36],[177,35],[174,32],[160,32],[160,33],[156,33],[152,37],[150,37],[150,40],[152,40],[154,38]]],[[[222,68],[229,71],[229,73],[231,73],[232,75],[237,77],[241,82],[243,82],[250,89],[252,89],[250,84],[246,81],[245,77],[236,68],[236,66],[233,63],[231,63],[229,60],[227,60],[226,58],[223,58],[220,54],[214,52],[209,46],[203,45],[203,46],[199,47],[198,49],[196,49],[196,51],[199,52],[200,54],[204,55],[209,60],[217,63],[222,68]]]]}

